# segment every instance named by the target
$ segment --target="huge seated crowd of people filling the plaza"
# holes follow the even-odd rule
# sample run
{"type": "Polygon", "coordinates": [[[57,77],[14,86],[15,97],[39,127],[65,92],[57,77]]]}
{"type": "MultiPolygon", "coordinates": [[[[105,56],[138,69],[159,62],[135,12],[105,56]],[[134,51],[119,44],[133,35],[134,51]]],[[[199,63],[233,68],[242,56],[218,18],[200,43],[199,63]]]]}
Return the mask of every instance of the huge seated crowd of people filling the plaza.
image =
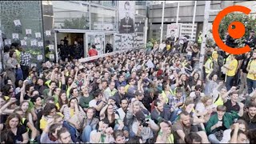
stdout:
{"type": "Polygon", "coordinates": [[[30,55],[6,47],[1,143],[255,143],[256,51],[208,47],[200,70],[198,44],[183,47],[166,40],[22,73],[30,55]]]}

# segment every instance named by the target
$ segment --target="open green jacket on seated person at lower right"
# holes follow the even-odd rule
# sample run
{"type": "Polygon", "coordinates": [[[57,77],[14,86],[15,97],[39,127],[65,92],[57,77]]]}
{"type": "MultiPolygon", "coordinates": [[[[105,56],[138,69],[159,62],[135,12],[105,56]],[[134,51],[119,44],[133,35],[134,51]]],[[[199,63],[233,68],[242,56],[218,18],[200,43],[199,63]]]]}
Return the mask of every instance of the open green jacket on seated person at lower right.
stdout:
{"type": "MultiPolygon", "coordinates": [[[[233,124],[234,119],[239,118],[238,113],[235,111],[232,111],[232,113],[225,113],[223,116],[223,125],[226,127],[226,129],[229,129],[230,126],[233,124]]],[[[211,126],[214,126],[216,123],[218,123],[218,114],[214,114],[210,117],[209,121],[206,124],[206,133],[207,134],[214,134],[216,129],[210,130],[211,126]]]]}

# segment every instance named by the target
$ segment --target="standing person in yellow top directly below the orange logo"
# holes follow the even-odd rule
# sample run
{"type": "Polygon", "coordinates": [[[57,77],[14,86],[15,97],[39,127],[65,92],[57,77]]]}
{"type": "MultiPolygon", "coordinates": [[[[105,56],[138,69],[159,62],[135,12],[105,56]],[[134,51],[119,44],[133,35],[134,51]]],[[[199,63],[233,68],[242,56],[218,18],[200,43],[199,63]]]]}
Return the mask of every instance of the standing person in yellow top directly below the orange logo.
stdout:
{"type": "Polygon", "coordinates": [[[226,89],[230,90],[232,86],[234,86],[234,75],[235,71],[238,67],[238,60],[234,58],[233,54],[230,54],[230,64],[228,66],[224,66],[227,69],[226,72],[226,89]]]}

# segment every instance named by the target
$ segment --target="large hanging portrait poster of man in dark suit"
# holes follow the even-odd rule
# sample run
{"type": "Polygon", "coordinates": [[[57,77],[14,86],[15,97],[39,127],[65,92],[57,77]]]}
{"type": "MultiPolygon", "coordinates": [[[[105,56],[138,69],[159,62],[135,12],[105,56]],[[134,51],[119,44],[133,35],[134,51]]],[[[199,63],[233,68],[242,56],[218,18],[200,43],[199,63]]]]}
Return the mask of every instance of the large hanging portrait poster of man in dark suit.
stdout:
{"type": "Polygon", "coordinates": [[[134,33],[135,22],[135,1],[118,2],[118,23],[120,34],[134,33]]]}

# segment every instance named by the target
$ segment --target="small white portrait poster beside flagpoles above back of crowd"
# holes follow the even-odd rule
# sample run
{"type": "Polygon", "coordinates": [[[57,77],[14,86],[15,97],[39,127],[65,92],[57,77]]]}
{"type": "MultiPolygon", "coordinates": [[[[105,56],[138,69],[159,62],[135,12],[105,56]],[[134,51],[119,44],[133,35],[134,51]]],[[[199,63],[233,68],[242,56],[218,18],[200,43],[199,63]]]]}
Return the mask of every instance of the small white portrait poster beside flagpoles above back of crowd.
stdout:
{"type": "Polygon", "coordinates": [[[174,41],[179,37],[180,24],[172,23],[167,25],[166,37],[170,38],[170,41],[174,41]]]}

